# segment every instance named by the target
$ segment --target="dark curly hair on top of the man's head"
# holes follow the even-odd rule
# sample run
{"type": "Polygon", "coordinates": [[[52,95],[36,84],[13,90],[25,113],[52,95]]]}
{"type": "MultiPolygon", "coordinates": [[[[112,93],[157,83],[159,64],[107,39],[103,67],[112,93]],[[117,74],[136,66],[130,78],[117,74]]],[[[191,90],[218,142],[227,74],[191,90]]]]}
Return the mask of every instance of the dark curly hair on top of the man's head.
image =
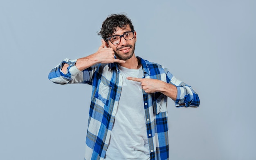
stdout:
{"type": "Polygon", "coordinates": [[[113,33],[115,33],[117,27],[125,29],[127,24],[129,24],[131,30],[134,31],[132,21],[126,16],[125,13],[111,14],[106,18],[106,20],[103,21],[102,27],[97,33],[98,35],[101,35],[103,40],[106,41],[106,38],[112,36],[113,33]]]}

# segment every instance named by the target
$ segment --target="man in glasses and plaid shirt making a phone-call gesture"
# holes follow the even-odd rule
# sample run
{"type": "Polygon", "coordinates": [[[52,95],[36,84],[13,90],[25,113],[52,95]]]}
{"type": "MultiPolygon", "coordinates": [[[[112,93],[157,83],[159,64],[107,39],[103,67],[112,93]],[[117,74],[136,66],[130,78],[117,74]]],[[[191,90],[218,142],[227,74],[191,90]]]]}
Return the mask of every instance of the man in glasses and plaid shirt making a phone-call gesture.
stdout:
{"type": "Polygon", "coordinates": [[[168,159],[167,97],[198,107],[193,89],[159,64],[135,57],[136,31],[124,14],[108,16],[98,51],[63,60],[49,73],[58,84],[92,86],[85,160],[168,159]]]}

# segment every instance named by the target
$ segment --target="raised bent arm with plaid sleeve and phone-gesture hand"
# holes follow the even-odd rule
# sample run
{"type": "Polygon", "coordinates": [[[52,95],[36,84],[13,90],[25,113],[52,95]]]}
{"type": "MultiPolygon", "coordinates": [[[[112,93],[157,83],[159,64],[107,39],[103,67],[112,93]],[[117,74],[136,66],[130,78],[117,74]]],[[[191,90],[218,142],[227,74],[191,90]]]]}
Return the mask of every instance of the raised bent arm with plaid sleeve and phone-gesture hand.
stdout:
{"type": "Polygon", "coordinates": [[[89,82],[92,72],[96,69],[95,64],[99,63],[124,63],[124,60],[115,59],[115,53],[112,48],[106,48],[106,42],[101,40],[102,44],[96,53],[90,56],[79,58],[77,60],[65,59],[49,73],[49,80],[58,84],[69,84],[79,82],[89,82]],[[86,70],[85,70],[86,69],[86,70]],[[87,73],[83,73],[83,72],[87,73]],[[90,77],[84,77],[84,75],[90,77]]]}

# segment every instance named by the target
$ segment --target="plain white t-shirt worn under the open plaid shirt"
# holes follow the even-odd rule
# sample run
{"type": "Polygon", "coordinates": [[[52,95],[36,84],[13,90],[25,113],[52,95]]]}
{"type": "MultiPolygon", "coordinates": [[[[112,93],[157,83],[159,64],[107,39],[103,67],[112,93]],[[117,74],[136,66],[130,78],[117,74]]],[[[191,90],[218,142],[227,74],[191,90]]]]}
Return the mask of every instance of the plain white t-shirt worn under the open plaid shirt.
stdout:
{"type": "Polygon", "coordinates": [[[142,67],[119,69],[123,87],[105,159],[150,160],[141,83],[126,79],[142,78],[142,67]]]}

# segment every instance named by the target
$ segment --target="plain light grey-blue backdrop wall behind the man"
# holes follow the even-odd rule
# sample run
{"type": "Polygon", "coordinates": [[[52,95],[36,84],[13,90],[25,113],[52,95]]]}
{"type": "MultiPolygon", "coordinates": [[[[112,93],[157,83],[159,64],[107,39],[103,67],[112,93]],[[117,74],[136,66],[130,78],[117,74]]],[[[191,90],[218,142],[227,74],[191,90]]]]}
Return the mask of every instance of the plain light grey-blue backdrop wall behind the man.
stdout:
{"type": "Polygon", "coordinates": [[[169,99],[170,160],[255,160],[255,0],[1,0],[0,160],[83,160],[92,89],[47,76],[97,51],[120,12],[135,55],[199,94],[199,108],[169,99]]]}

